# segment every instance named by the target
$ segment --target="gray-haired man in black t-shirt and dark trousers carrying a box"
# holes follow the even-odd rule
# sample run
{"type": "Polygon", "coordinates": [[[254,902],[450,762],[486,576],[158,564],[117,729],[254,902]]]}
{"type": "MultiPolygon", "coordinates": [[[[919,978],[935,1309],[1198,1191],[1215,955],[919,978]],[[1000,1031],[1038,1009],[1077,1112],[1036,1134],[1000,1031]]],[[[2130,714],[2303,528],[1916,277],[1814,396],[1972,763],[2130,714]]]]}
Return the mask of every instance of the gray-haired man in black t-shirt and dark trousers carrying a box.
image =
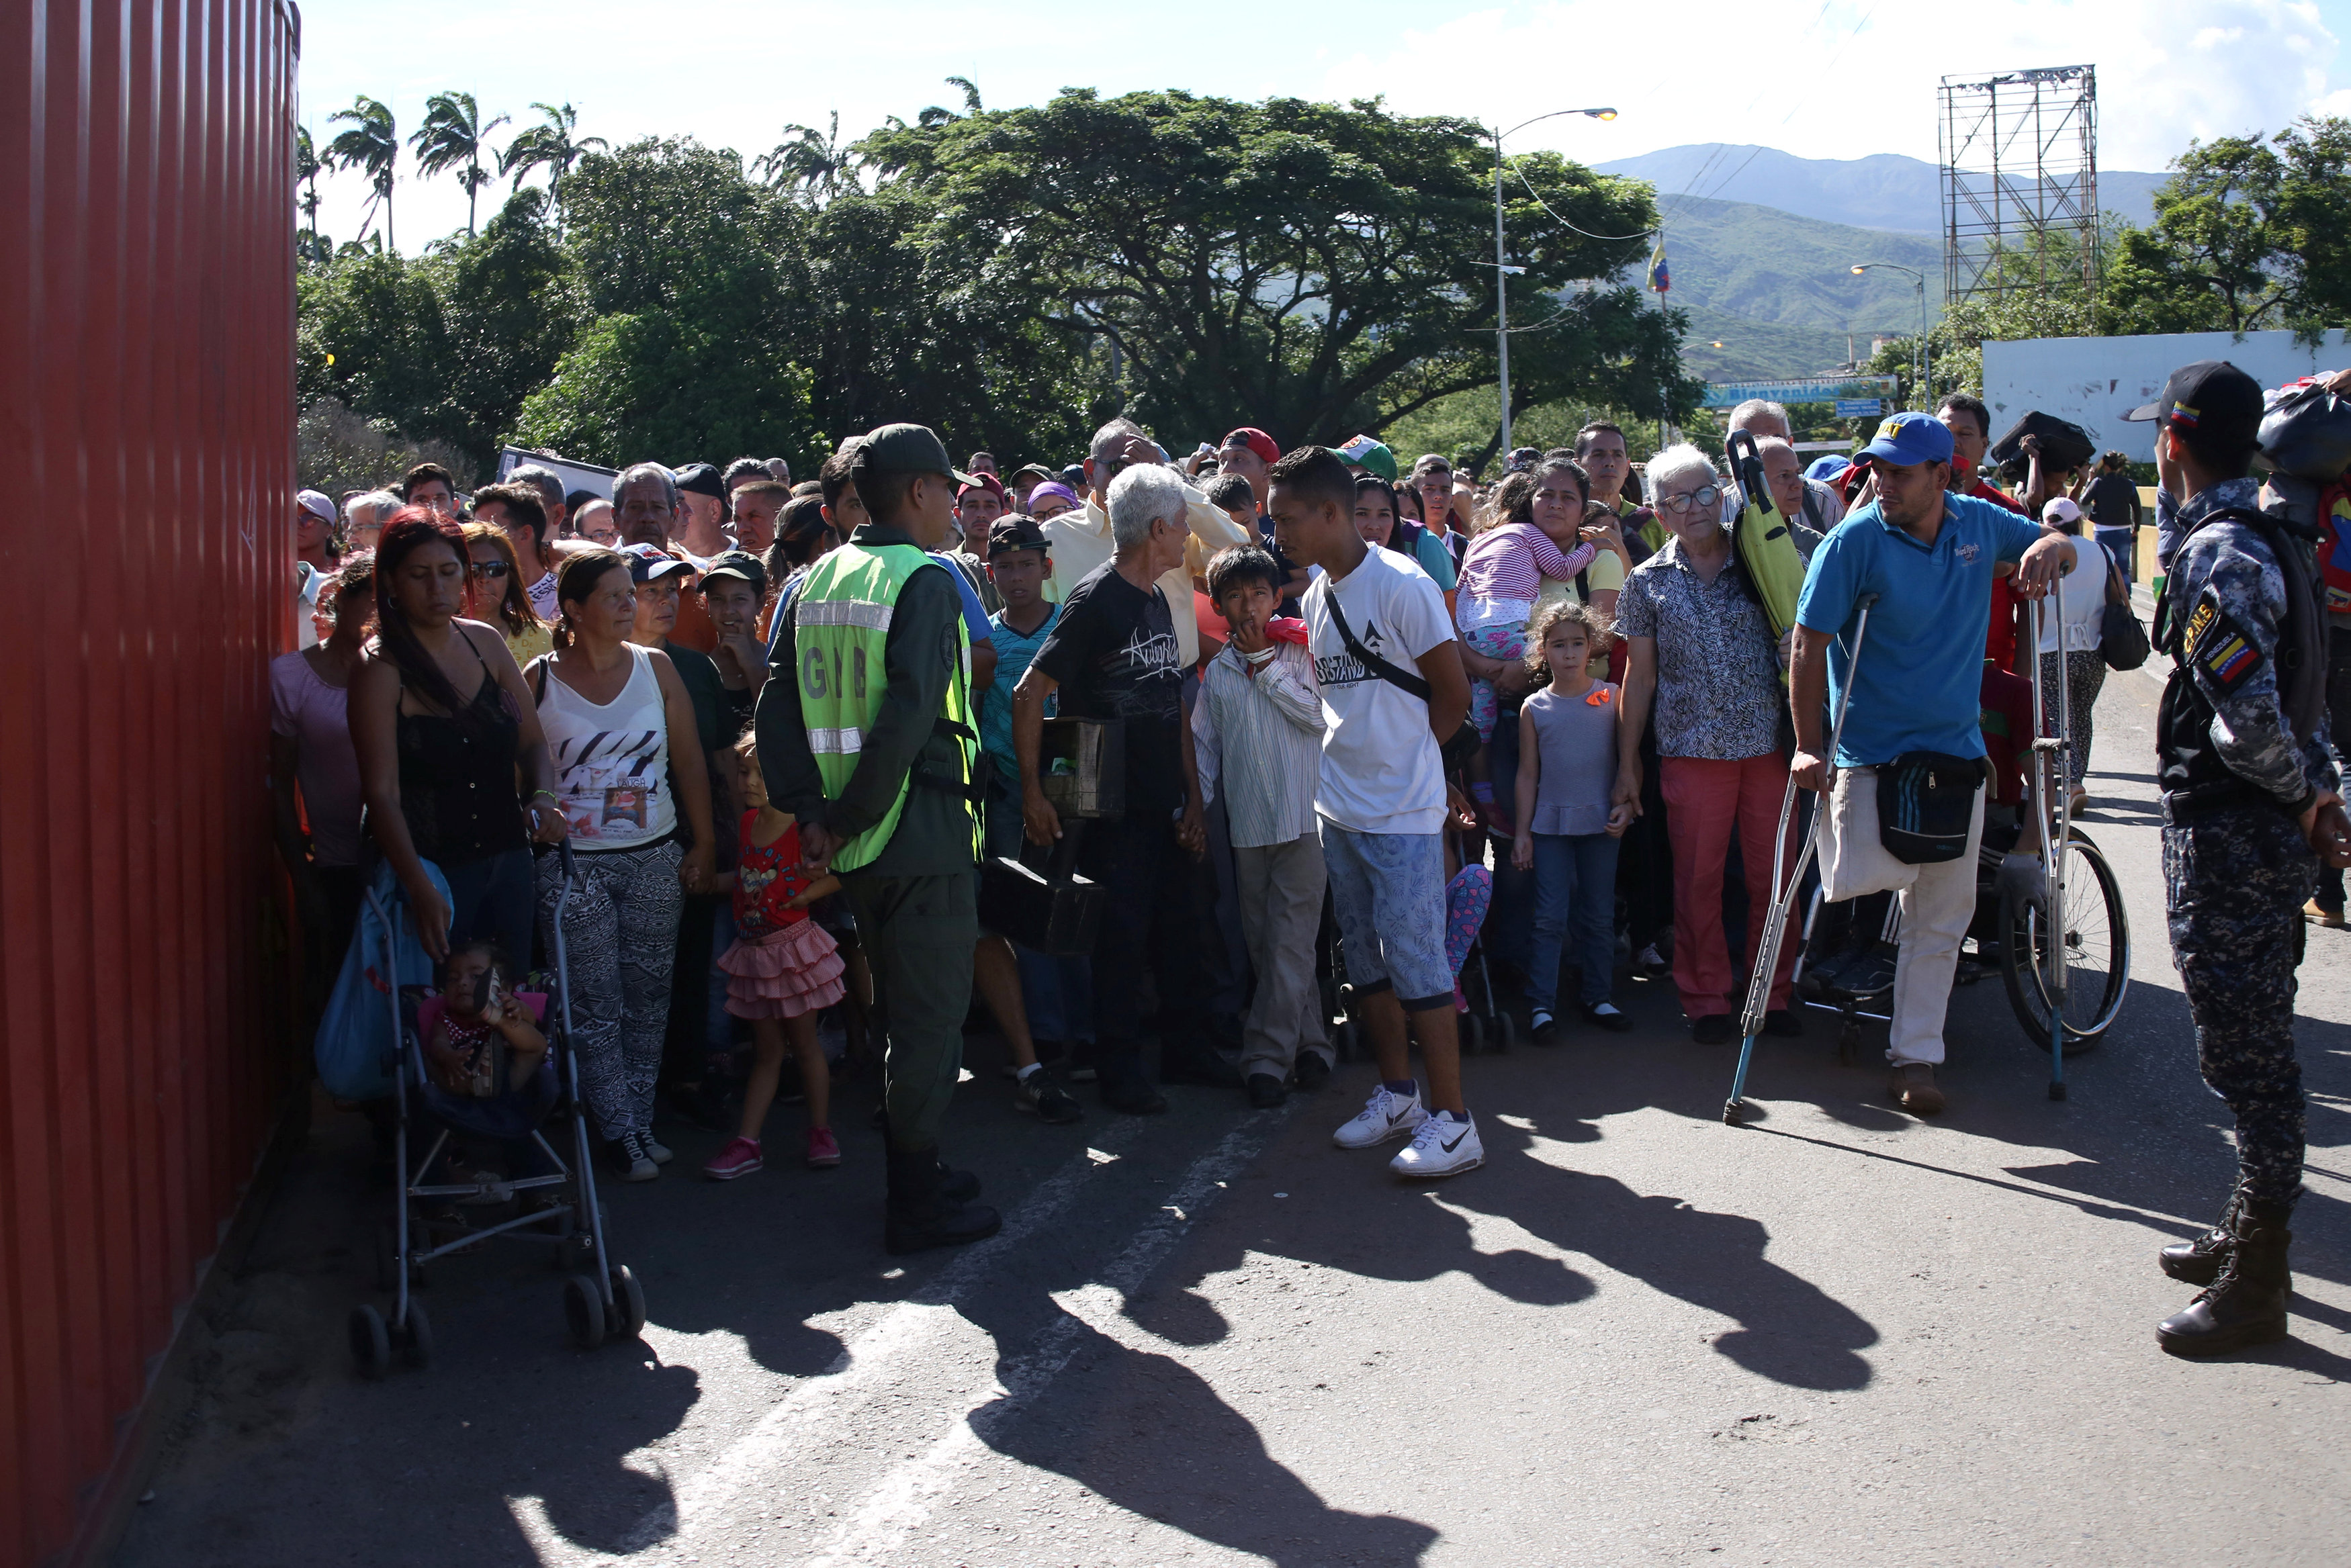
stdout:
{"type": "MultiPolygon", "coordinates": [[[[1107,451],[1150,447],[1119,433],[1107,451]]],[[[1105,451],[1098,440],[1096,451],[1105,451]]],[[[1089,480],[1117,458],[1089,461],[1089,480]],[[1100,468],[1098,468],[1100,463],[1100,468]]],[[[1084,823],[1077,867],[1105,889],[1093,938],[1093,1032],[1103,1105],[1133,1117],[1168,1107],[1143,1072],[1140,978],[1159,983],[1159,1077],[1166,1084],[1239,1088],[1241,1074],[1208,1044],[1201,1011],[1199,931],[1187,896],[1185,856],[1206,849],[1192,726],[1183,712],[1190,668],[1176,642],[1164,588],[1183,571],[1192,496],[1173,468],[1150,458],[1103,477],[1117,552],[1081,576],[1060,618],[1013,686],[1013,752],[1020,757],[1020,816],[1034,844],[1065,827],[1044,797],[1044,703],[1060,693],[1065,719],[1117,719],[1126,731],[1126,813],[1084,823]]],[[[1060,522],[1058,517],[1053,522],[1060,522]]],[[[1190,583],[1183,588],[1192,604],[1190,583]]]]}

